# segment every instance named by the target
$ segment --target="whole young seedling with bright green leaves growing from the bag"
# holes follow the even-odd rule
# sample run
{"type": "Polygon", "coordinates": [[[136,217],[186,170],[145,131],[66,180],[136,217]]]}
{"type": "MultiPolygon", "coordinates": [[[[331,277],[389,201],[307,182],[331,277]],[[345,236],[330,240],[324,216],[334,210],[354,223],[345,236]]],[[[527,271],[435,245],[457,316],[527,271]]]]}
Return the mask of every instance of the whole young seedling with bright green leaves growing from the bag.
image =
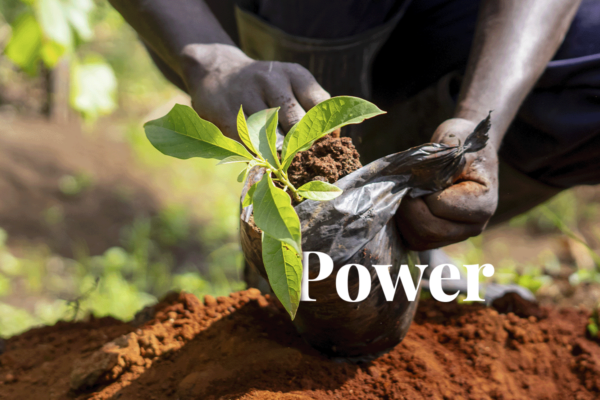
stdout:
{"type": "Polygon", "coordinates": [[[337,128],[358,124],[383,111],[356,97],[325,100],[310,109],[290,129],[280,156],[275,145],[278,110],[279,107],[262,110],[246,120],[244,110],[239,108],[238,134],[249,151],[224,136],[193,109],[181,104],[175,104],[162,118],[146,122],[144,128],[148,140],[163,154],[182,159],[215,158],[220,160],[218,164],[244,163],[238,182],[244,182],[254,166],[265,169],[263,178],[248,190],[242,206],[253,204],[254,223],[262,230],[262,257],[269,283],[293,319],[300,301],[302,246],[300,220],[290,196],[298,202],[304,199],[332,200],[342,191],[322,181],[295,188],[287,178],[287,169],[296,153],[307,150],[316,140],[337,128]]]}

